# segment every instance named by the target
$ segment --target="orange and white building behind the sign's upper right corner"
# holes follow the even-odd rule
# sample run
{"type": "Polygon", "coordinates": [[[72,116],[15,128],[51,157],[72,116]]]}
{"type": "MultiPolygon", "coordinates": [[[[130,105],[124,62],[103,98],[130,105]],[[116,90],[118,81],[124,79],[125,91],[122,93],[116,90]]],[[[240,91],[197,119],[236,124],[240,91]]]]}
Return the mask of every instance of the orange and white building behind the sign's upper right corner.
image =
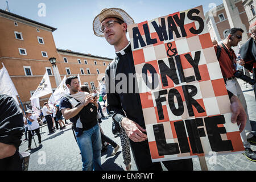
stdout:
{"type": "Polygon", "coordinates": [[[249,22],[242,5],[242,0],[229,0],[218,5],[205,14],[205,21],[212,40],[221,42],[225,39],[226,32],[233,27],[242,28],[243,42],[249,38],[249,22]]]}

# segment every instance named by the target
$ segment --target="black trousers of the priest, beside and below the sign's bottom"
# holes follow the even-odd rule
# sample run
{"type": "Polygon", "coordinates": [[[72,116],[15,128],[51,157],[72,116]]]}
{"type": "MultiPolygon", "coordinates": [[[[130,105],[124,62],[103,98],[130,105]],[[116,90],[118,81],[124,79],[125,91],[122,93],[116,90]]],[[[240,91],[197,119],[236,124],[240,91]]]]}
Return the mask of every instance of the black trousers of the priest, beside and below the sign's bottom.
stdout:
{"type": "MultiPolygon", "coordinates": [[[[130,146],[138,171],[163,171],[160,162],[152,163],[147,140],[144,142],[130,140],[130,146]]],[[[193,171],[192,159],[170,160],[162,163],[168,171],[193,171]]]]}

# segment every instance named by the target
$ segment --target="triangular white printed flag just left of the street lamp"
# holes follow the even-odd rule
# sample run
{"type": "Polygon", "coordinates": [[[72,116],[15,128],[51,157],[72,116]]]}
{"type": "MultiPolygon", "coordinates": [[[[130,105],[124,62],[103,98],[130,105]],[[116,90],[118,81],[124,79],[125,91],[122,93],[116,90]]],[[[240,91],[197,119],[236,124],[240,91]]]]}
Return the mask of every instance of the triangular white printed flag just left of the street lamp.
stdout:
{"type": "Polygon", "coordinates": [[[49,93],[52,93],[52,86],[51,82],[49,81],[48,72],[46,72],[30,100],[32,100],[33,98],[46,96],[49,93]]]}

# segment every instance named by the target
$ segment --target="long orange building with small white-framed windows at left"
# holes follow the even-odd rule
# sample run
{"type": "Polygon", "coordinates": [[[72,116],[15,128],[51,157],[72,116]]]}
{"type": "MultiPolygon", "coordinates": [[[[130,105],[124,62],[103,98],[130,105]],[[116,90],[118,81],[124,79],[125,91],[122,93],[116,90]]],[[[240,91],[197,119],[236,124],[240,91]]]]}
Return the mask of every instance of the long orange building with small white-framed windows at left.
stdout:
{"type": "MultiPolygon", "coordinates": [[[[56,58],[61,80],[65,75],[79,74],[81,84],[88,85],[89,89],[97,88],[112,61],[107,57],[57,49],[52,35],[56,28],[1,9],[0,24],[0,64],[9,72],[25,109],[30,107],[30,97],[46,71],[53,91],[58,86],[50,57],[56,58]]],[[[40,106],[50,96],[41,97],[40,106]]]]}

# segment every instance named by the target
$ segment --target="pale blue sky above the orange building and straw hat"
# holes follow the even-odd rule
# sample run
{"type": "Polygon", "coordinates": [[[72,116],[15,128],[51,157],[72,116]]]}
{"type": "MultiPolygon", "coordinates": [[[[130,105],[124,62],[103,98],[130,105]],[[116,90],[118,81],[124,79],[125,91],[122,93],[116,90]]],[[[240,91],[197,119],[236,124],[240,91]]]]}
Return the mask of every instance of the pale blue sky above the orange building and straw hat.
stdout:
{"type": "MultiPolygon", "coordinates": [[[[203,5],[204,13],[222,3],[221,0],[8,0],[11,13],[24,16],[57,28],[53,38],[57,48],[91,53],[114,58],[114,48],[104,38],[93,34],[94,17],[104,8],[125,10],[135,23],[165,16],[177,11],[203,5]],[[39,3],[46,5],[46,16],[39,16],[39,3]]],[[[6,9],[6,0],[0,0],[0,9],[6,9]]]]}

